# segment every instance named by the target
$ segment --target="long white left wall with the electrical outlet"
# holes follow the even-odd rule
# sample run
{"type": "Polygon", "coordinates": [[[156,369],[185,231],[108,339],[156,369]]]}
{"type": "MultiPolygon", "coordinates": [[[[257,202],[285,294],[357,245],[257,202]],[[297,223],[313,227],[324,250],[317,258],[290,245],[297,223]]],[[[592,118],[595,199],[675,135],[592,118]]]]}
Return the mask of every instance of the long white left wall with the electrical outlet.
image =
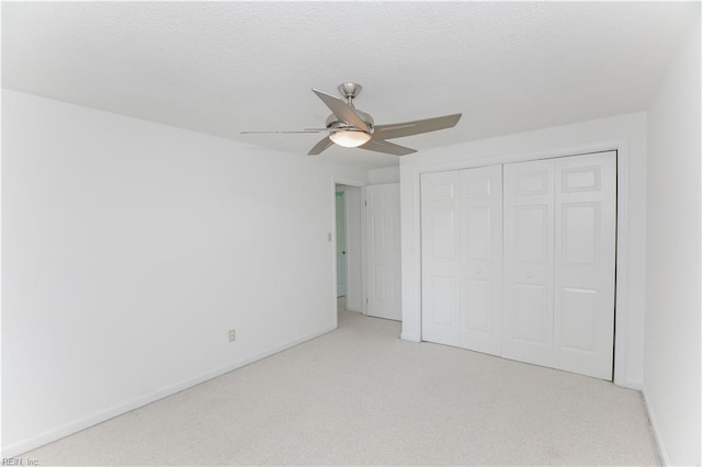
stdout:
{"type": "Polygon", "coordinates": [[[14,91],[2,135],[4,457],[336,327],[363,171],[14,91]]]}

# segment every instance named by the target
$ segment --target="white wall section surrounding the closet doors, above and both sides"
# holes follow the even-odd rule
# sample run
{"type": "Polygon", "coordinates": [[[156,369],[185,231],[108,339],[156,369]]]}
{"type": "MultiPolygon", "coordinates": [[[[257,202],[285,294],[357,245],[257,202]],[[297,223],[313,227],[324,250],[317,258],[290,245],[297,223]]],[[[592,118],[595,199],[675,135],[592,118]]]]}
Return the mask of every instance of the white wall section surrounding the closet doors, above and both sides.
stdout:
{"type": "Polygon", "coordinates": [[[619,150],[615,383],[643,386],[646,227],[646,114],[636,113],[484,139],[400,158],[403,339],[421,339],[419,176],[597,150],[619,150]],[[626,187],[626,189],[625,189],[626,187]]]}

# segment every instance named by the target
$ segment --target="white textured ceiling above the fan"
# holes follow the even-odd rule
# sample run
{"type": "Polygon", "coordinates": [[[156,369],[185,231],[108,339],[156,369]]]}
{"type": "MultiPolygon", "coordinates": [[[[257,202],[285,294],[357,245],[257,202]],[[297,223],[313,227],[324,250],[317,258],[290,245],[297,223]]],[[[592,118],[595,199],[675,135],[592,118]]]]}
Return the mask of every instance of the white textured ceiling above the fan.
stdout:
{"type": "MultiPolygon", "coordinates": [[[[462,112],[422,150],[647,109],[698,2],[3,2],[2,86],[305,155],[310,91],[376,124],[462,112]]],[[[384,167],[397,157],[332,147],[384,167]]]]}

